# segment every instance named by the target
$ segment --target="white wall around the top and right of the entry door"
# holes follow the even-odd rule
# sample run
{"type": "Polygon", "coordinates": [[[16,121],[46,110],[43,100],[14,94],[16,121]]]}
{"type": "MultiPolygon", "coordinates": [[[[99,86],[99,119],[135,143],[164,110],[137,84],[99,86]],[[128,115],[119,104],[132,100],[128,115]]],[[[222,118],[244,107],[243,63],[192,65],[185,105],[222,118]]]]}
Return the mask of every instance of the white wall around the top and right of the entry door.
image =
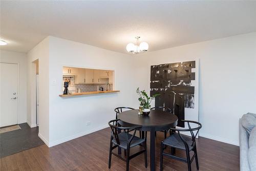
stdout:
{"type": "Polygon", "coordinates": [[[19,67],[18,123],[27,122],[27,57],[25,53],[0,51],[0,61],[17,63],[19,67]]]}

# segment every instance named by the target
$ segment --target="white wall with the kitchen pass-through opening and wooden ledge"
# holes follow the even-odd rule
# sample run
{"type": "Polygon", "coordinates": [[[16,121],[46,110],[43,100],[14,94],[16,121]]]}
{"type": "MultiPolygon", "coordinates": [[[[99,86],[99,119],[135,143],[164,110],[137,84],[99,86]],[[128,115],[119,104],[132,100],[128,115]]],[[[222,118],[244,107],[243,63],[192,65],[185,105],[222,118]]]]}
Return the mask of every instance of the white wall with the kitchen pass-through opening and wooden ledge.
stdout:
{"type": "Polygon", "coordinates": [[[117,106],[132,106],[137,99],[134,99],[134,62],[131,55],[50,37],[48,145],[103,129],[108,126],[109,120],[115,118],[114,109],[117,106]],[[61,98],[62,66],[115,70],[115,89],[120,92],[61,98]],[[91,125],[87,126],[87,122],[91,125]]]}

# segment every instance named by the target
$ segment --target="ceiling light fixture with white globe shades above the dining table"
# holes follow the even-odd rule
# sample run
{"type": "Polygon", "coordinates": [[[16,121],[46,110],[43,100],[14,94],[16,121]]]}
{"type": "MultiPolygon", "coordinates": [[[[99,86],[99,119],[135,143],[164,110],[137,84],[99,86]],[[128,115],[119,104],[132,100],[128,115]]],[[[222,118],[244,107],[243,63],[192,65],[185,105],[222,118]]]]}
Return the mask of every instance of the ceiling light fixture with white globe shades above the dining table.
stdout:
{"type": "Polygon", "coordinates": [[[126,46],[127,52],[130,53],[141,53],[141,52],[146,52],[148,50],[148,44],[146,42],[141,42],[140,43],[140,37],[136,36],[136,45],[133,43],[130,43],[126,46]]]}

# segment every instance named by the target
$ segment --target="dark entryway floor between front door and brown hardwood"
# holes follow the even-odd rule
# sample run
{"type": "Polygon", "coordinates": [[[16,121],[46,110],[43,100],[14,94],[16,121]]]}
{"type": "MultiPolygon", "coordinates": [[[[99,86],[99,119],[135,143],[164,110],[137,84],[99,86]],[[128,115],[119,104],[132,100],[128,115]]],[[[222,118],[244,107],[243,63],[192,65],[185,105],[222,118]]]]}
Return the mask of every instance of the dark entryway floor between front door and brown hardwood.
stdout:
{"type": "Polygon", "coordinates": [[[19,126],[22,129],[0,134],[0,158],[45,144],[38,137],[38,127],[30,128],[27,123],[19,126]]]}

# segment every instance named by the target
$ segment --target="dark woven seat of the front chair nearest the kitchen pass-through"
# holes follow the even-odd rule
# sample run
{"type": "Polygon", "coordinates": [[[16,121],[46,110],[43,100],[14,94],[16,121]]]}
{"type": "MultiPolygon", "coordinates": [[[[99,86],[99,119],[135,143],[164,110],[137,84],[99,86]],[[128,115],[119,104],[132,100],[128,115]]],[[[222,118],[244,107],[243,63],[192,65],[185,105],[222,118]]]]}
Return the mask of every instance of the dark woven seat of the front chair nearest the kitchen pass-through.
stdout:
{"type": "MultiPolygon", "coordinates": [[[[112,142],[113,142],[115,145],[118,145],[119,147],[126,149],[126,148],[127,148],[128,140],[129,140],[132,136],[133,136],[133,135],[131,135],[131,134],[122,132],[122,133],[118,134],[118,138],[119,138],[119,141],[120,141],[120,145],[117,144],[116,139],[113,139],[112,142]]],[[[134,146],[136,146],[136,145],[139,145],[139,144],[143,143],[144,141],[145,141],[144,139],[140,139],[139,137],[134,136],[134,138],[133,138],[133,140],[132,140],[132,142],[131,142],[131,146],[130,146],[130,147],[134,147],[134,146]]]]}

